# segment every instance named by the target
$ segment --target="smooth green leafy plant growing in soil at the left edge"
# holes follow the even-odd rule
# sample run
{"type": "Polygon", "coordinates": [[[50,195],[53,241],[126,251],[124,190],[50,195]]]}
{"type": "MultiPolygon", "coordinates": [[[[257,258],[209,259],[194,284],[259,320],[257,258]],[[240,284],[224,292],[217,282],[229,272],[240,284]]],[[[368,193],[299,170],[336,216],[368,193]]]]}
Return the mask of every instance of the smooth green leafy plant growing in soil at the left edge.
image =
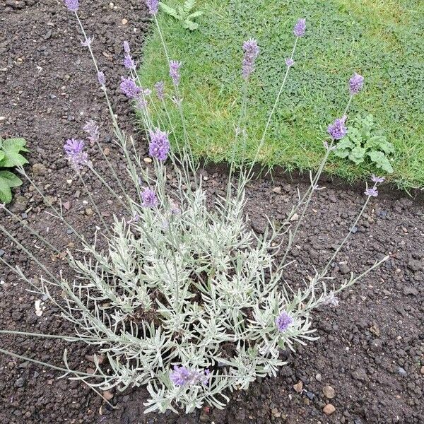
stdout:
{"type": "Polygon", "coordinates": [[[19,187],[22,180],[13,172],[3,168],[11,168],[28,163],[21,152],[28,152],[25,139],[0,139],[0,202],[9,204],[12,201],[13,187],[19,187]]]}

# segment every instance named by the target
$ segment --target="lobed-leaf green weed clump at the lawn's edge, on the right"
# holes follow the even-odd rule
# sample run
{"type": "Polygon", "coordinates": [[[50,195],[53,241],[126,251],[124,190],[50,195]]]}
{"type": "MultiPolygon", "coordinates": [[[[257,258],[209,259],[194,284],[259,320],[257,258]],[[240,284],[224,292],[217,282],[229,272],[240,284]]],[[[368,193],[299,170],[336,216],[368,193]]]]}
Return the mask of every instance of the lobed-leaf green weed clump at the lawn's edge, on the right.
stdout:
{"type": "Polygon", "coordinates": [[[337,144],[334,153],[339,158],[348,158],[357,165],[370,160],[379,169],[393,173],[389,155],[394,153],[394,146],[387,141],[382,130],[375,128],[372,114],[355,118],[349,126],[348,135],[337,144]]]}

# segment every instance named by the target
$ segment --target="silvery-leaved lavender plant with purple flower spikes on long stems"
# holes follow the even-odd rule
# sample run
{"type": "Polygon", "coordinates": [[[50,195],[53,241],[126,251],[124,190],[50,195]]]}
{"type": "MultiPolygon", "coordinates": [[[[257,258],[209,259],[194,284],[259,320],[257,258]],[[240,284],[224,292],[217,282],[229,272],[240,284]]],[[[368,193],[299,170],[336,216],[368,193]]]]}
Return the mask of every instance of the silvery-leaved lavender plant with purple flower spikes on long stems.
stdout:
{"type": "MultiPolygon", "coordinates": [[[[158,25],[155,19],[158,1],[147,0],[146,3],[158,25]]],[[[149,139],[149,155],[153,159],[152,175],[141,160],[133,139],[119,129],[108,98],[105,75],[98,69],[90,38],[78,16],[78,0],[65,0],[65,4],[69,11],[75,13],[81,25],[85,37],[83,45],[93,58],[98,81],[111,112],[116,143],[126,158],[136,194],[131,195],[125,190],[117,172],[105,157],[120,190],[116,192],[91,163],[84,150],[85,141],[69,139],[64,151],[83,187],[86,188],[83,172],[86,172],[85,175],[90,172],[122,206],[122,212],[114,216],[112,225],[102,221],[107,249],[100,249],[97,235],[95,242],[87,242],[78,235],[60,208],[52,206],[52,214],[76,233],[83,246],[82,259],[69,252],[72,278],[54,275],[1,224],[0,230],[42,269],[40,285],[35,286],[23,271],[7,264],[1,257],[0,261],[18,273],[32,286],[32,290],[46,296],[59,308],[64,319],[75,327],[73,336],[33,336],[88,343],[97,349],[98,355],[105,356],[110,368],[110,371],[105,370],[95,359],[94,375],[71,370],[65,352],[65,366],[54,367],[62,370],[64,375],[81,379],[96,391],[144,385],[151,396],[146,402],[146,412],[177,411],[177,408],[184,407],[189,413],[205,403],[223,408],[229,399],[228,390],[246,389],[258,377],[276,376],[278,368],[285,365],[280,358],[281,349],[295,350],[296,344],[314,340],[312,312],[320,305],[336,305],[341,290],[353,285],[382,262],[376,262],[361,276],[352,274],[338,287],[329,285],[327,270],[348,239],[349,232],[326,267],[317,271],[305,287],[293,290],[284,283],[285,260],[317,190],[324,164],[334,150],[334,142],[348,133],[348,108],[353,95],[359,93],[362,80],[355,77],[346,109],[341,118],[329,125],[330,137],[324,141],[324,158],[317,174],[311,174],[310,188],[293,206],[281,228],[277,229],[270,223],[265,234],[258,236],[247,225],[244,213],[245,187],[254,177],[253,165],[257,158],[237,169],[237,179],[233,178],[236,168],[232,165],[226,196],[214,199],[214,206],[208,207],[201,175],[196,172],[197,165],[190,153],[189,133],[182,110],[180,85],[184,64],[170,59],[164,42],[172,92],[168,93],[165,83],[159,81],[154,87],[157,98],[153,98],[151,90],[141,86],[134,72],[130,47],[128,43],[124,44],[124,66],[129,70],[129,76],[122,80],[120,88],[143,118],[149,139]],[[170,114],[167,113],[168,122],[153,122],[151,110],[155,107],[167,110],[168,99],[173,100],[172,107],[177,107],[180,112],[183,140],[175,139],[170,114]],[[177,189],[172,189],[167,182],[168,169],[175,172],[177,189]],[[291,218],[295,213],[300,213],[300,220],[292,228],[291,218]],[[59,288],[63,298],[55,298],[52,287],[59,288]]],[[[264,136],[258,142],[257,155],[288,73],[293,68],[296,46],[299,38],[305,35],[305,29],[305,19],[298,20],[293,30],[293,51],[287,60],[276,102],[264,126],[264,136]]],[[[246,86],[259,54],[257,40],[245,42],[243,51],[241,79],[246,86]]],[[[243,127],[246,122],[245,102],[246,96],[243,95],[235,145],[241,137],[244,146],[248,137],[243,127]]],[[[100,148],[98,126],[88,122],[84,130],[88,141],[100,148]]],[[[20,172],[33,184],[22,168],[20,172]]],[[[377,184],[382,179],[374,177],[373,181],[374,186],[365,192],[367,199],[356,223],[370,198],[377,195],[377,184]]],[[[41,190],[33,185],[43,196],[41,190]]],[[[93,201],[88,189],[87,194],[93,201]]],[[[94,201],[93,205],[98,211],[94,201]]],[[[4,210],[14,216],[5,207],[4,210]]],[[[98,214],[103,219],[100,211],[98,214]]],[[[23,225],[57,252],[42,235],[27,224],[23,225]]],[[[21,358],[3,349],[0,351],[21,358]]]]}

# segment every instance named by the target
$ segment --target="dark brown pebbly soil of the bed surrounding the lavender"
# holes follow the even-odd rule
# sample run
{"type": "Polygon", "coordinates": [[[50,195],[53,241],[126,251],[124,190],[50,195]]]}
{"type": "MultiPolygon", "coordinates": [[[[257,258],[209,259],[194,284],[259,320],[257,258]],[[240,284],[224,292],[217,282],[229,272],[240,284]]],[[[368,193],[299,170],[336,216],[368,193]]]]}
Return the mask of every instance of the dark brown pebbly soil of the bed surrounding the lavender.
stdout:
{"type": "MultiPolygon", "coordinates": [[[[148,30],[142,1],[116,0],[112,8],[108,1],[82,3],[81,17],[88,34],[94,35],[100,68],[108,85],[117,87],[119,76],[124,75],[122,42],[129,40],[140,47],[148,30]]],[[[61,1],[0,0],[0,31],[0,117],[4,117],[0,118],[0,135],[28,140],[32,151],[29,175],[51,201],[58,204],[61,200],[69,206],[66,217],[90,235],[97,219],[66,165],[64,140],[82,136],[81,127],[88,119],[102,122],[102,144],[123,175],[125,170],[112,143],[88,53],[79,45],[75,19],[61,1]]],[[[134,133],[128,104],[117,89],[112,98],[122,126],[134,133]]],[[[90,155],[107,174],[100,153],[92,148],[90,155]]],[[[205,174],[208,191],[219,193],[225,175],[211,168],[205,174]]],[[[100,184],[89,177],[87,181],[100,199],[105,218],[112,210],[119,213],[100,184]]],[[[285,278],[293,285],[307,281],[314,266],[325,264],[364,201],[360,190],[331,182],[322,185],[327,187],[314,199],[290,258],[293,264],[285,278]]],[[[247,212],[253,228],[262,232],[266,216],[283,219],[296,190],[305,187],[302,179],[294,184],[287,177],[252,184],[247,212]]],[[[47,215],[47,208],[28,184],[16,192],[12,209],[61,252],[78,247],[76,237],[47,215]]],[[[21,225],[4,215],[0,220],[51,269],[61,269],[61,260],[42,249],[21,225]]],[[[424,423],[423,205],[388,192],[372,201],[355,230],[332,269],[336,282],[350,271],[360,273],[384,254],[391,254],[391,259],[343,293],[338,307],[317,312],[314,326],[319,340],[298,346],[296,353],[283,353],[288,365],[278,378],[263,379],[248,391],[231,394],[224,411],[204,408],[189,416],[144,416],[143,389],[114,394],[117,409],[111,410],[82,383],[58,379],[59,372],[0,355],[0,423],[424,423]],[[302,393],[293,389],[298,382],[302,382],[302,393]],[[322,391],[327,385],[336,392],[331,401],[322,391]],[[329,402],[336,411],[326,416],[322,409],[329,402]]],[[[0,255],[19,265],[28,277],[40,274],[26,254],[3,236],[0,255]]],[[[73,333],[49,303],[37,317],[35,300],[40,297],[25,290],[28,287],[3,265],[0,281],[1,329],[73,333]]],[[[17,336],[1,336],[1,348],[56,365],[61,365],[64,348],[68,348],[71,367],[82,370],[90,368],[86,355],[93,353],[83,345],[17,336]]]]}

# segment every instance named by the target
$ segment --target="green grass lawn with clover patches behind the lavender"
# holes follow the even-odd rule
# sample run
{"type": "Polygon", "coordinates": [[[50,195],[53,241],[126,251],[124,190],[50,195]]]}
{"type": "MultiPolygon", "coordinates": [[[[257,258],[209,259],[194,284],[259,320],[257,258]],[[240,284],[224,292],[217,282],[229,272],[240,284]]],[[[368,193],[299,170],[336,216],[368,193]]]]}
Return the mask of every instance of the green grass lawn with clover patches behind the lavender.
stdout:
{"type": "MultiPolygon", "coordinates": [[[[166,2],[166,1],[165,1],[166,2]]],[[[176,1],[167,1],[175,4],[176,1]]],[[[181,60],[184,115],[193,151],[213,161],[229,160],[240,116],[241,45],[257,38],[261,54],[249,84],[247,152],[254,155],[293,47],[293,25],[307,18],[296,64],[288,78],[259,160],[287,170],[316,169],[324,153],[326,126],[348,100],[353,71],[365,76],[350,116],[372,113],[394,143],[399,187],[424,186],[424,2],[422,0],[204,0],[206,12],[191,32],[160,13],[172,59],[181,60]]],[[[143,84],[164,80],[171,90],[156,30],[143,47],[143,84]]],[[[175,114],[175,107],[168,109],[175,114]]],[[[164,119],[156,112],[155,119],[164,119]]],[[[175,127],[177,135],[181,128],[175,127]]],[[[376,172],[332,158],[326,171],[353,181],[376,172]]]]}

